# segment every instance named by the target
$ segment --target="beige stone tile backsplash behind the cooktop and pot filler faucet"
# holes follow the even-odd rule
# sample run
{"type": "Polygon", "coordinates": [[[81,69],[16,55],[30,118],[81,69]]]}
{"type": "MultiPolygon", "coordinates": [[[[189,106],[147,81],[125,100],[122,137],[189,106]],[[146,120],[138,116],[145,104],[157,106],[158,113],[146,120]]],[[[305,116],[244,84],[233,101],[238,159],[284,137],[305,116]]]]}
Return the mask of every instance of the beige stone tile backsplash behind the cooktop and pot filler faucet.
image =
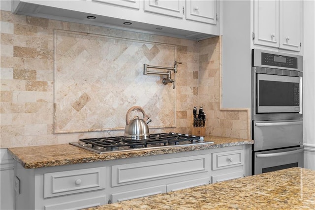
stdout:
{"type": "MultiPolygon", "coordinates": [[[[197,42],[16,15],[8,11],[0,11],[0,25],[0,147],[2,148],[60,144],[78,141],[80,138],[123,135],[127,110],[120,110],[119,115],[122,116],[119,118],[117,117],[117,107],[123,105],[126,109],[132,105],[139,105],[138,103],[145,106],[144,109],[148,115],[156,117],[155,124],[149,124],[151,133],[191,133],[192,108],[194,105],[203,105],[207,114],[206,134],[241,139],[250,138],[249,110],[221,108],[220,37],[197,42]],[[60,38],[61,32],[63,35],[74,36],[63,39],[65,42],[60,44],[58,38],[60,38]],[[78,38],[75,35],[84,35],[86,40],[90,39],[92,45],[76,45],[81,47],[79,57],[73,57],[74,53],[58,57],[61,55],[58,53],[66,52],[74,46],[74,43],[78,43],[75,42],[78,38]],[[100,41],[99,45],[95,44],[97,40],[100,41]],[[71,113],[80,113],[89,105],[89,102],[99,101],[100,97],[93,94],[93,90],[84,92],[84,89],[78,88],[72,90],[76,95],[75,98],[62,101],[60,96],[68,95],[70,92],[67,88],[63,88],[65,83],[61,82],[61,77],[58,77],[62,75],[60,74],[62,71],[59,70],[65,70],[67,64],[82,65],[84,59],[90,58],[85,52],[90,50],[89,52],[98,55],[102,52],[101,50],[104,50],[104,48],[98,47],[105,46],[105,42],[112,42],[107,45],[107,62],[111,65],[122,64],[122,62],[112,62],[115,58],[126,60],[127,56],[123,56],[124,53],[126,54],[126,45],[139,45],[137,53],[132,52],[128,55],[132,58],[131,63],[120,67],[120,74],[117,75],[116,72],[112,79],[119,78],[118,83],[121,84],[130,79],[130,84],[133,85],[131,93],[141,92],[141,94],[137,97],[128,97],[130,87],[127,85],[121,85],[121,88],[117,89],[113,88],[115,85],[108,84],[106,94],[111,97],[108,97],[106,103],[101,107],[93,108],[109,113],[107,117],[111,118],[113,122],[104,126],[106,122],[104,120],[103,123],[96,123],[88,127],[83,122],[93,118],[96,119],[96,122],[101,122],[100,119],[104,116],[91,115],[88,113],[89,109],[85,110],[85,114],[76,116],[78,118],[71,113]],[[56,60],[56,56],[60,60],[56,60]],[[178,67],[178,73],[176,75],[172,73],[172,78],[175,78],[176,81],[174,90],[171,88],[171,84],[165,86],[161,84],[162,77],[143,75],[141,72],[144,63],[172,66],[174,59],[182,62],[178,67]],[[129,76],[129,66],[136,67],[133,69],[137,72],[136,75],[129,76]],[[137,77],[137,75],[139,76],[137,77]],[[167,86],[168,88],[166,88],[167,86]],[[151,90],[150,94],[142,95],[144,89],[151,90]],[[123,98],[117,97],[125,92],[128,94],[125,94],[123,98]],[[170,96],[170,98],[163,97],[164,95],[170,96]],[[148,98],[146,103],[141,96],[148,98]],[[58,112],[58,106],[71,107],[71,111],[69,111],[70,109],[60,109],[58,112]],[[113,113],[112,110],[116,112],[113,113]],[[56,119],[58,121],[62,117],[69,121],[75,120],[70,124],[60,126],[62,123],[58,124],[56,119]]],[[[104,67],[107,63],[104,63],[104,66],[100,64],[102,63],[94,63],[93,70],[86,72],[86,75],[97,75],[96,66],[99,66],[99,70],[105,70],[104,67]]],[[[91,65],[92,62],[89,63],[90,67],[91,65]]],[[[74,81],[82,82],[85,77],[84,74],[78,74],[75,69],[71,68],[64,73],[63,79],[65,80],[63,81],[72,83],[74,81]]],[[[109,74],[100,75],[106,77],[104,81],[111,79],[109,74]]],[[[86,78],[90,78],[89,76],[86,78]]],[[[100,77],[97,78],[100,81],[100,77]]],[[[97,82],[95,85],[97,86],[97,82]]],[[[92,86],[90,81],[87,89],[92,86]]]]}

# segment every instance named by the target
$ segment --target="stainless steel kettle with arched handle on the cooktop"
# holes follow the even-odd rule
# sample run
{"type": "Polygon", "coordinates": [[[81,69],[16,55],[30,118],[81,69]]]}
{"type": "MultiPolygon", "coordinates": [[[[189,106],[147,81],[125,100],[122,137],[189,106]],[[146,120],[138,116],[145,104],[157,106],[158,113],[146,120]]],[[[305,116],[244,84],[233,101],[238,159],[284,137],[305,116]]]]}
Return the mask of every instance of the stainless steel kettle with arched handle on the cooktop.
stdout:
{"type": "Polygon", "coordinates": [[[148,123],[151,122],[150,117],[146,115],[144,110],[140,106],[132,106],[129,108],[126,114],[126,127],[125,127],[125,137],[130,137],[135,140],[146,139],[150,136],[148,123]],[[143,119],[139,119],[138,116],[129,121],[129,115],[131,111],[139,110],[143,114],[143,119]],[[146,119],[146,122],[144,119],[146,119]]]}

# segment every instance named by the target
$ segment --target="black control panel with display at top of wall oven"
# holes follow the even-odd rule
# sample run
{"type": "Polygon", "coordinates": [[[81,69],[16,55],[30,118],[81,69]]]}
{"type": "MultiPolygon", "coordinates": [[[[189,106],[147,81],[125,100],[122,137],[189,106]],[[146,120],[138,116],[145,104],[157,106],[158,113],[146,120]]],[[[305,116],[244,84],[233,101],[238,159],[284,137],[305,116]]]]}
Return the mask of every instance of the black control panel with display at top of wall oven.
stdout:
{"type": "Polygon", "coordinates": [[[297,58],[269,53],[261,53],[261,64],[297,69],[297,58]]]}

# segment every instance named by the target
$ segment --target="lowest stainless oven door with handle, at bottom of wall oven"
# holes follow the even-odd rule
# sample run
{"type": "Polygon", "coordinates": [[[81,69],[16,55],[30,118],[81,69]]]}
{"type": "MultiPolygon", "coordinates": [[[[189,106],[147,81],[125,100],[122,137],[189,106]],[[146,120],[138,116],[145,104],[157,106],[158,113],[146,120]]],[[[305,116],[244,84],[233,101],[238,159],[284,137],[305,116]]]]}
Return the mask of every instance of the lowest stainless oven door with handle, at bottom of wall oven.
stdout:
{"type": "Polygon", "coordinates": [[[291,167],[303,167],[303,147],[293,147],[254,153],[254,174],[291,167]]]}

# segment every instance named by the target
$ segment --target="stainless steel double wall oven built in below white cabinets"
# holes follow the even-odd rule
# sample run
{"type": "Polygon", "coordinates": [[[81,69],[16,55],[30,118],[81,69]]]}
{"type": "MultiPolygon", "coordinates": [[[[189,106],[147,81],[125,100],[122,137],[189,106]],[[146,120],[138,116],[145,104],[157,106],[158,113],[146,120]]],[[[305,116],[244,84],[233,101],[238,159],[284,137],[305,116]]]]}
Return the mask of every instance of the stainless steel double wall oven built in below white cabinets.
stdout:
{"type": "Polygon", "coordinates": [[[302,56],[252,50],[252,174],[303,167],[302,56]]]}

